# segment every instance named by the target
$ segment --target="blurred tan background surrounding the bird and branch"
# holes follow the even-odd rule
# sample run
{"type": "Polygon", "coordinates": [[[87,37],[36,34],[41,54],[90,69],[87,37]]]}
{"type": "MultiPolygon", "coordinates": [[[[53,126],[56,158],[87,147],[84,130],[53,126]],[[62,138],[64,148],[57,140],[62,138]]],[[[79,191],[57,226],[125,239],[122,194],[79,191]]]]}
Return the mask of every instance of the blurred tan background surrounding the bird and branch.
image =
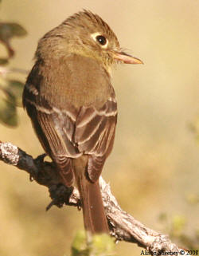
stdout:
{"type": "MultiPolygon", "coordinates": [[[[123,210],[193,248],[199,237],[199,144],[193,132],[199,116],[199,2],[2,0],[0,22],[17,22],[28,32],[11,41],[15,56],[9,67],[31,69],[38,39],[82,9],[99,14],[120,45],[144,62],[120,65],[113,73],[119,120],[103,178],[123,210]]],[[[0,45],[0,56],[6,55],[0,45]]],[[[23,74],[9,75],[16,77],[25,82],[23,74]]],[[[22,108],[18,119],[16,128],[0,124],[0,140],[34,157],[43,153],[22,108]]],[[[0,170],[0,255],[69,255],[83,228],[81,212],[73,207],[45,212],[50,201],[45,187],[5,163],[0,170]]],[[[141,250],[126,242],[116,246],[123,256],[141,250]]]]}

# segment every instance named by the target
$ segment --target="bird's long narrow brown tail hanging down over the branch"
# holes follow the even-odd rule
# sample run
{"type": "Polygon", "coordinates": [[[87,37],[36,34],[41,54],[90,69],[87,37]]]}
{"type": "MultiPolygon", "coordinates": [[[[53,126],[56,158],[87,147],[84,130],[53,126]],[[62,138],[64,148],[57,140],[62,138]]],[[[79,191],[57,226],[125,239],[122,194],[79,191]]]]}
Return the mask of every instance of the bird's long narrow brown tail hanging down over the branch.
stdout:
{"type": "Polygon", "coordinates": [[[88,157],[82,156],[72,161],[80,191],[85,230],[91,234],[109,234],[99,181],[92,183],[87,177],[88,157]]]}

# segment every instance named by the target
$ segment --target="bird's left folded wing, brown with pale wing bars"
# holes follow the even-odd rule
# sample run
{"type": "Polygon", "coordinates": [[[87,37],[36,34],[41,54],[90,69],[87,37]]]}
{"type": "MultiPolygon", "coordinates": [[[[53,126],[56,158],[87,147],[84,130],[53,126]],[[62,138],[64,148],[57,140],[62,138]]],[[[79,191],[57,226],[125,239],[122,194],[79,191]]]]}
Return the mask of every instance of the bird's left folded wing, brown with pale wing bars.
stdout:
{"type": "Polygon", "coordinates": [[[71,158],[82,155],[72,143],[78,112],[73,108],[70,111],[54,108],[44,97],[39,96],[35,85],[28,83],[25,85],[23,104],[41,145],[57,164],[64,183],[70,187],[73,183],[71,158]]]}

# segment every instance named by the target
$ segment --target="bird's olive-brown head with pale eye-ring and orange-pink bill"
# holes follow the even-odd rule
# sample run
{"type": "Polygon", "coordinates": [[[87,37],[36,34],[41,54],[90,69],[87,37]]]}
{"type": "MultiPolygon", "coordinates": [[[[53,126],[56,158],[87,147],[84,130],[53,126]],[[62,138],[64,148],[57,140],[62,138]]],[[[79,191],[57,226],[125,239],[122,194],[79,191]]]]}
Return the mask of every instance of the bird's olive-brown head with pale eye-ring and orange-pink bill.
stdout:
{"type": "Polygon", "coordinates": [[[41,52],[44,53],[41,51],[42,45],[46,49],[45,55],[49,52],[52,54],[52,51],[55,52],[55,57],[76,53],[95,58],[107,69],[117,62],[142,63],[138,58],[123,52],[115,33],[107,23],[88,10],[73,14],[60,26],[46,33],[39,42],[37,57],[41,52]]]}

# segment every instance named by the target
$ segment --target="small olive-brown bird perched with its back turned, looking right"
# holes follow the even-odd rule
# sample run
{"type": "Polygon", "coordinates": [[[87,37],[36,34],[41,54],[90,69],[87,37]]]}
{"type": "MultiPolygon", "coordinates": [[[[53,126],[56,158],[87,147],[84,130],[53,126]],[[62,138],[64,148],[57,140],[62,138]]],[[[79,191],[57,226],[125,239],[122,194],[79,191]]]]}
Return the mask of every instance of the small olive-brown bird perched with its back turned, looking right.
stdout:
{"type": "Polygon", "coordinates": [[[24,108],[62,183],[77,184],[90,234],[109,233],[99,177],[115,137],[115,63],[142,61],[123,52],[100,16],[83,10],[38,42],[23,92],[24,108]]]}

